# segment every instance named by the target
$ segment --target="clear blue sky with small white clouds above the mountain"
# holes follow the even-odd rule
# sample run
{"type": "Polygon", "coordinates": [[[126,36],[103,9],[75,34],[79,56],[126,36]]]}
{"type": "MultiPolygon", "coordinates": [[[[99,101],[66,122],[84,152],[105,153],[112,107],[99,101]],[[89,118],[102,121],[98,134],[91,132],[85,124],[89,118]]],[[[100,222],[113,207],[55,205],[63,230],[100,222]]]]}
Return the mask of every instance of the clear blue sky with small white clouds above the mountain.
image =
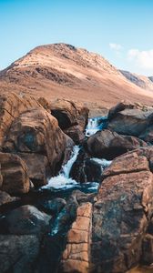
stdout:
{"type": "Polygon", "coordinates": [[[36,45],[87,48],[153,75],[152,0],[0,0],[0,69],[36,45]]]}

